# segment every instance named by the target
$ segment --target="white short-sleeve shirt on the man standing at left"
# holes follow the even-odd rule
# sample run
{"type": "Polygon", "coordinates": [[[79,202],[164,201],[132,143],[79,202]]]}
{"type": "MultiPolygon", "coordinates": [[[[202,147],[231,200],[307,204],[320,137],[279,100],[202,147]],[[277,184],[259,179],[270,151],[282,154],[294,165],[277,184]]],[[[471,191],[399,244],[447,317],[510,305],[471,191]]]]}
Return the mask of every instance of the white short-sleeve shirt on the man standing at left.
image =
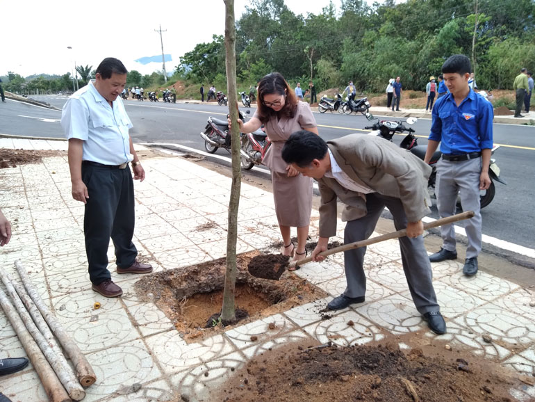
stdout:
{"type": "Polygon", "coordinates": [[[133,160],[130,153],[130,121],[122,99],[113,107],[100,95],[93,81],[76,91],[61,113],[61,127],[67,139],[83,140],[83,161],[120,165],[133,160]]]}

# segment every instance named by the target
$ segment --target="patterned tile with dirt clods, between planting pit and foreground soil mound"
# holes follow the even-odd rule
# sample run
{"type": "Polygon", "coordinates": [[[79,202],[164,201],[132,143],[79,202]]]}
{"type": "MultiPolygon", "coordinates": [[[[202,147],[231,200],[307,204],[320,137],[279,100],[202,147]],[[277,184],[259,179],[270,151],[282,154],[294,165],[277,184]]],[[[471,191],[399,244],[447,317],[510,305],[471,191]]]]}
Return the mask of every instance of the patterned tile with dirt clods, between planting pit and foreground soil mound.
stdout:
{"type": "Polygon", "coordinates": [[[275,314],[265,319],[240,325],[238,328],[228,330],[224,335],[236,345],[236,348],[242,349],[257,342],[262,343],[267,339],[279,337],[284,332],[295,329],[295,324],[289,321],[288,317],[282,314],[275,314]],[[272,330],[270,330],[270,324],[274,324],[272,330]],[[256,340],[251,339],[253,336],[256,337],[256,340]]]}

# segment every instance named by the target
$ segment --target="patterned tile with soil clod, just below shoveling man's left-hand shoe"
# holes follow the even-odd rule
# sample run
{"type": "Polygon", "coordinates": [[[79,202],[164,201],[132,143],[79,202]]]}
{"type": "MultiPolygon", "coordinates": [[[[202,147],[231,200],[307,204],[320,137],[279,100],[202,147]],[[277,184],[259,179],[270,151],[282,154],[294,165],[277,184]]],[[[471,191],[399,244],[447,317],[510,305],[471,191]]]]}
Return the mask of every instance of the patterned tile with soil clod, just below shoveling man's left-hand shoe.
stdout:
{"type": "Polygon", "coordinates": [[[318,339],[321,344],[332,341],[339,346],[363,345],[370,341],[384,339],[377,325],[352,310],[319,323],[307,325],[303,330],[311,337],[318,339]]]}

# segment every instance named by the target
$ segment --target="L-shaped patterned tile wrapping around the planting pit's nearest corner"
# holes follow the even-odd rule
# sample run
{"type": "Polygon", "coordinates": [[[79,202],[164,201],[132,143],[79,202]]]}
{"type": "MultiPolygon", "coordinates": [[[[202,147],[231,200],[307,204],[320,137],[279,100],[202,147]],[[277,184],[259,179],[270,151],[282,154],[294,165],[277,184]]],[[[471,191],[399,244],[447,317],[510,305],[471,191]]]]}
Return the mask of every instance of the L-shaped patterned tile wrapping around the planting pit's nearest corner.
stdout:
{"type": "Polygon", "coordinates": [[[168,375],[192,369],[234,351],[231,341],[215,335],[194,344],[184,341],[175,330],[145,339],[153,357],[168,375]]]}

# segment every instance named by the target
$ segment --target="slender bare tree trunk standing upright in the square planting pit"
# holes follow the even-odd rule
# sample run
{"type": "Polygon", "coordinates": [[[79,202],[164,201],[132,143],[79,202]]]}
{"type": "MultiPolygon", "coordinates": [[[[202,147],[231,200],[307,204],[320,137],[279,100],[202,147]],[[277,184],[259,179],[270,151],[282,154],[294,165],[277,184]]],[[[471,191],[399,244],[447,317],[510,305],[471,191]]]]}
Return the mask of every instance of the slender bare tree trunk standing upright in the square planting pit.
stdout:
{"type": "Polygon", "coordinates": [[[227,93],[229,94],[229,112],[232,122],[232,186],[229,200],[229,226],[227,230],[227,273],[223,291],[221,321],[236,321],[234,296],[236,294],[236,241],[238,238],[238,207],[240,206],[241,161],[240,161],[240,127],[238,127],[238,94],[236,91],[236,25],[234,23],[234,0],[225,3],[225,52],[227,54],[227,93]]]}

